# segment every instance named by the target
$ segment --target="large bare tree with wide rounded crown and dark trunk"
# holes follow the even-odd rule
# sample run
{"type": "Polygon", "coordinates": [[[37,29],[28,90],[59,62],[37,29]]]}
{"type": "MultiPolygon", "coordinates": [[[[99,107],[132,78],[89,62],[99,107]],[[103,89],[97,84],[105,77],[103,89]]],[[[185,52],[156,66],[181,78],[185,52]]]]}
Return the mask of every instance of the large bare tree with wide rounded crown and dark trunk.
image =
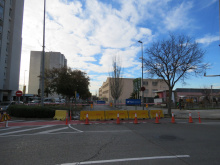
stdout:
{"type": "Polygon", "coordinates": [[[186,35],[170,34],[167,40],[158,41],[146,49],[144,60],[147,72],[153,77],[162,78],[169,87],[168,114],[171,115],[171,96],[175,84],[204,73],[208,64],[203,63],[205,51],[198,43],[186,35]]]}

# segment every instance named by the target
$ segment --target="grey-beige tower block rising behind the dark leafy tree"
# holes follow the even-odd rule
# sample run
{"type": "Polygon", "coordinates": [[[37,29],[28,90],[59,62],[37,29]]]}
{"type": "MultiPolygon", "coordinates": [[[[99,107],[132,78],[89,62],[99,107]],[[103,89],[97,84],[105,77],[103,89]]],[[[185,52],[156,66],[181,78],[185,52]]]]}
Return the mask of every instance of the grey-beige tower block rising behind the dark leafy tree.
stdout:
{"type": "MultiPolygon", "coordinates": [[[[38,94],[40,89],[42,51],[31,51],[28,93],[38,94]]],[[[67,60],[60,52],[45,52],[45,69],[61,68],[67,66],[67,60]]]]}

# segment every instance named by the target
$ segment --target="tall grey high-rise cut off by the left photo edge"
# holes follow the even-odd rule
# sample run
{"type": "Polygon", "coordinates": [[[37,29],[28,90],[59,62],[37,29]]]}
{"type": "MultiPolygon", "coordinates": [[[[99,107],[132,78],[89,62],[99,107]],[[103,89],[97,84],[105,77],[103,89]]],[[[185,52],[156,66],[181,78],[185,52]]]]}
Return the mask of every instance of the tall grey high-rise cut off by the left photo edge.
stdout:
{"type": "Polygon", "coordinates": [[[0,0],[0,101],[19,88],[24,0],[0,0]]]}

